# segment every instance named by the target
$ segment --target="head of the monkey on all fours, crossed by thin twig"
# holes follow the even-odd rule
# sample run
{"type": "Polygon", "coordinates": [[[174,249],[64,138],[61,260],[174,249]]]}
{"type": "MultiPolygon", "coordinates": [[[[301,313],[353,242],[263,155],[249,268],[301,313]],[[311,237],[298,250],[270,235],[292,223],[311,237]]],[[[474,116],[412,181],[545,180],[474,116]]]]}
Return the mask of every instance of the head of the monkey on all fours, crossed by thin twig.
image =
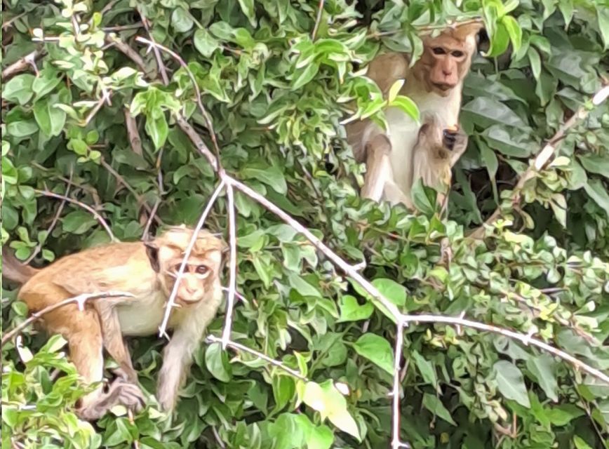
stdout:
{"type": "MultiPolygon", "coordinates": [[[[152,269],[159,274],[163,293],[169,297],[180,272],[182,258],[189,246],[194,229],[171,227],[153,241],[145,243],[152,269]]],[[[196,304],[208,297],[220,282],[225,243],[206,230],[201,230],[184,267],[175,302],[196,304]]]]}

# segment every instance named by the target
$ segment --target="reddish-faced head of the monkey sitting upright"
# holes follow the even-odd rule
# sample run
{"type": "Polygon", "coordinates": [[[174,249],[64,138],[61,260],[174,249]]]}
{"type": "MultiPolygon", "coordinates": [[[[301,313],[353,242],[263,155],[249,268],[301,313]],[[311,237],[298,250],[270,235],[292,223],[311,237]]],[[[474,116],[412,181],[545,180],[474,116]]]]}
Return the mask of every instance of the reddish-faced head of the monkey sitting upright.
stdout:
{"type": "Polygon", "coordinates": [[[481,28],[481,24],[471,23],[448,28],[439,36],[424,37],[423,53],[414,71],[428,92],[446,97],[460,85],[469,71],[476,51],[476,34],[481,28]]]}

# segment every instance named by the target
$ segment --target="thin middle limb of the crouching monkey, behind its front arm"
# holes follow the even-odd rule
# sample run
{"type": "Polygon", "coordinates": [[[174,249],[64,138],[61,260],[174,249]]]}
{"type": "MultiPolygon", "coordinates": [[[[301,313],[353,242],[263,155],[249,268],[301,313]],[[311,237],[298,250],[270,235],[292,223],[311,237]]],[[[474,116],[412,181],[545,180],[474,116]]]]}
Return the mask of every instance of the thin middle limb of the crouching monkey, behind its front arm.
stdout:
{"type": "Polygon", "coordinates": [[[106,351],[114,358],[116,363],[119,363],[127,380],[137,385],[138,373],[133,369],[131,355],[123,340],[121,324],[119,323],[119,316],[116,313],[114,304],[108,300],[98,300],[95,303],[95,309],[100,314],[102,336],[106,351]]]}

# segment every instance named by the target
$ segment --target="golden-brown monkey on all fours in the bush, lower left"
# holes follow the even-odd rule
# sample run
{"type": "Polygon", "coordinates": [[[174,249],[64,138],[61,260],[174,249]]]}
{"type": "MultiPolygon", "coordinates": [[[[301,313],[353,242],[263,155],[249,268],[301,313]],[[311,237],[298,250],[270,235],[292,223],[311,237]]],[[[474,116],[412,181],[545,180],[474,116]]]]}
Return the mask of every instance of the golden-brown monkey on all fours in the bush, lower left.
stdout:
{"type": "MultiPolygon", "coordinates": [[[[43,269],[3,260],[3,276],[22,283],[18,298],[35,312],[69,297],[118,290],[133,297],[89,300],[83,311],[67,304],[42,316],[49,333],[65,337],[69,358],[86,384],[102,381],[102,350],[119,363],[124,379],[105,393],[101,386],[80,398],[76,412],[98,420],[116,404],[139,410],[144,396],[123,335],[152,335],[165,314],[165,305],[178,276],[182,257],[194,229],[170,227],[149,241],[109,243],[66,255],[43,269]]],[[[199,232],[178,286],[168,328],[173,335],[163,349],[156,398],[171,411],[185,381],[194,351],[222,302],[220,270],[227,246],[210,232],[199,232]]]]}

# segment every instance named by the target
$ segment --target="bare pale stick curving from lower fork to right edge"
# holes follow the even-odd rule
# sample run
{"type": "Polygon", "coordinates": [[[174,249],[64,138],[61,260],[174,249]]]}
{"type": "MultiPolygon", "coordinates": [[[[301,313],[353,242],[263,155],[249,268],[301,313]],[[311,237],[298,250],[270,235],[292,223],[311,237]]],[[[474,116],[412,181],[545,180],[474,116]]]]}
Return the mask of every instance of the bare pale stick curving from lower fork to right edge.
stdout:
{"type": "Polygon", "coordinates": [[[562,358],[565,361],[571,363],[571,365],[575,366],[575,368],[579,368],[580,370],[584,370],[590,375],[593,375],[599,380],[609,384],[609,375],[606,375],[601,370],[597,370],[596,368],[592,368],[587,363],[580,361],[579,359],[567,354],[565,351],[561,351],[561,349],[556,349],[550,344],[544,343],[541,340],[537,340],[536,338],[531,337],[530,335],[514,332],[514,330],[508,330],[504,328],[500,328],[497,326],[493,326],[490,324],[479,323],[478,321],[471,321],[468,319],[463,319],[460,317],[453,316],[445,316],[445,315],[402,315],[401,320],[403,323],[446,323],[451,326],[465,326],[468,328],[474,328],[478,330],[485,330],[486,332],[492,332],[500,335],[504,335],[505,337],[513,338],[514,340],[520,340],[526,346],[529,344],[533,344],[533,346],[540,347],[551,354],[554,354],[557,357],[562,358]]]}

